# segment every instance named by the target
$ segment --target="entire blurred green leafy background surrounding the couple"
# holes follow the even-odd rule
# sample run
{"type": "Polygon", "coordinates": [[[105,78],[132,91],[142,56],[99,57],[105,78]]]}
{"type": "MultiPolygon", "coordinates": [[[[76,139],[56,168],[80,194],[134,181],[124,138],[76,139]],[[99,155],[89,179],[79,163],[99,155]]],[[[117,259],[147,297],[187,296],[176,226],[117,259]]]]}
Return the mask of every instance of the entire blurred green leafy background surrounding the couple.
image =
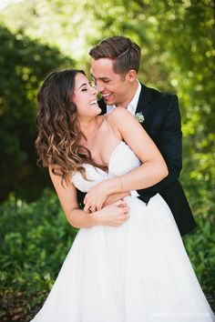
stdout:
{"type": "Polygon", "coordinates": [[[210,0],[1,0],[1,321],[35,314],[77,234],[47,171],[36,166],[37,89],[54,69],[77,67],[89,75],[90,47],[111,35],[140,45],[142,83],[179,96],[180,181],[199,225],[184,243],[214,306],[214,11],[210,0]]]}

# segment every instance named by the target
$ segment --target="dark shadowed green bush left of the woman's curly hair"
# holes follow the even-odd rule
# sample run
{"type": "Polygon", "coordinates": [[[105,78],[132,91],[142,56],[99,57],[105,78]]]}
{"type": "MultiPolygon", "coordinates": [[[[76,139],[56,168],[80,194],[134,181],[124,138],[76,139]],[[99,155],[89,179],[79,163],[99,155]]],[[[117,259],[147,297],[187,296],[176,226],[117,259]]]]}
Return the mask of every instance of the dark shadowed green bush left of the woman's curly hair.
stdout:
{"type": "Polygon", "coordinates": [[[1,199],[15,191],[30,200],[48,183],[36,166],[36,92],[49,71],[73,61],[54,47],[4,27],[0,43],[1,199]]]}

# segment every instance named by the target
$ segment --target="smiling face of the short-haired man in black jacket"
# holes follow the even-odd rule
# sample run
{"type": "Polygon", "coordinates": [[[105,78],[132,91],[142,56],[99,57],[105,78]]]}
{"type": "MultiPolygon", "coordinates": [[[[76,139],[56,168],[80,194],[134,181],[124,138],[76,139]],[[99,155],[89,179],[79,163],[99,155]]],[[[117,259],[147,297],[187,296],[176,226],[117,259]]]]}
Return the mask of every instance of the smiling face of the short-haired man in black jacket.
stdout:
{"type": "Polygon", "coordinates": [[[128,77],[114,72],[112,59],[92,59],[91,74],[107,105],[126,107],[130,86],[128,77]]]}

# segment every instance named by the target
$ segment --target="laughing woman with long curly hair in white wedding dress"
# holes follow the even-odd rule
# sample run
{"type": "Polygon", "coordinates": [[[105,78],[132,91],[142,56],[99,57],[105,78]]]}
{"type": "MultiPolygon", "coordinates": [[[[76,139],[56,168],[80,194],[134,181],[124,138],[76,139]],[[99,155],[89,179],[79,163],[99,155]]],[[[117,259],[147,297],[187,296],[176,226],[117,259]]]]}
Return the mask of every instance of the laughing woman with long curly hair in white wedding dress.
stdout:
{"type": "Polygon", "coordinates": [[[38,103],[37,151],[69,224],[80,229],[32,321],[214,321],[162,197],[146,205],[128,193],[106,205],[112,194],[168,175],[136,118],[120,107],[99,116],[97,89],[78,70],[48,75],[38,103]],[[87,192],[84,210],[77,189],[87,192]]]}

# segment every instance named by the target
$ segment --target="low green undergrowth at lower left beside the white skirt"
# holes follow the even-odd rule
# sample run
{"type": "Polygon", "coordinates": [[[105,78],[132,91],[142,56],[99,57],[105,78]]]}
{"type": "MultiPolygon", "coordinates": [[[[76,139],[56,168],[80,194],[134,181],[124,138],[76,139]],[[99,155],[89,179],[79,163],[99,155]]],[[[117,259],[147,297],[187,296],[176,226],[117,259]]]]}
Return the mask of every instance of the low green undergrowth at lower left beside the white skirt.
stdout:
{"type": "Polygon", "coordinates": [[[20,321],[41,307],[77,229],[50,191],[31,204],[11,196],[0,213],[0,318],[20,321]]]}

